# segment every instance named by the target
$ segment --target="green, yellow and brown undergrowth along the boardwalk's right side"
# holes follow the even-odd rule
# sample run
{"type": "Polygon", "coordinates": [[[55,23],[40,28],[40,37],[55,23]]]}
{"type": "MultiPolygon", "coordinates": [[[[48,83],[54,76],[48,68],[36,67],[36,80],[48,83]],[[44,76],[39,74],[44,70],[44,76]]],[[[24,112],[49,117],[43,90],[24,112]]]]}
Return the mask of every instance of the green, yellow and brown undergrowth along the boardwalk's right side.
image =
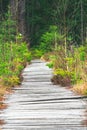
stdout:
{"type": "Polygon", "coordinates": [[[75,87],[73,89],[78,93],[87,94],[87,45],[84,43],[84,45],[75,46],[70,43],[69,40],[65,43],[64,36],[58,33],[55,26],[51,26],[42,35],[40,45],[33,48],[32,52],[35,58],[41,57],[48,62],[49,68],[53,68],[54,76],[51,81],[54,84],[61,86],[79,84],[77,86],[85,87],[76,86],[76,89],[75,87]]]}

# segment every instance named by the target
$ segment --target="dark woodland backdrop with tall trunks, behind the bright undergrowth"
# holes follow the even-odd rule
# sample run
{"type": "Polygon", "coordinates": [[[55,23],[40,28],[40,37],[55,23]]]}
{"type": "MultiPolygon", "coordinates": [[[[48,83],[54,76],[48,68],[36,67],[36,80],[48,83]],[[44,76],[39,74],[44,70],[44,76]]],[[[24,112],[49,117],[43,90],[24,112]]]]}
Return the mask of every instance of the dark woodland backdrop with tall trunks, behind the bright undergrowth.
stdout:
{"type": "Polygon", "coordinates": [[[0,0],[0,14],[8,5],[17,20],[19,31],[25,34],[31,45],[39,44],[42,34],[50,25],[72,38],[72,44],[83,44],[87,37],[86,0],[0,0]]]}

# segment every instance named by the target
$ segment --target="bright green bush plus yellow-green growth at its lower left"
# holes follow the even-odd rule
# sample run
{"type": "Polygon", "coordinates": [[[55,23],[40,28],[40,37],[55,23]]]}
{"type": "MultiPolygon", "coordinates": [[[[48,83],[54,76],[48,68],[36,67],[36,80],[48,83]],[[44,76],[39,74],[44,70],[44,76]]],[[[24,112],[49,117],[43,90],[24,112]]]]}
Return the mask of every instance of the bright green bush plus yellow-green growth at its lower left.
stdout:
{"type": "Polygon", "coordinates": [[[51,25],[48,31],[41,36],[40,44],[38,46],[33,46],[32,54],[34,57],[41,57],[43,54],[51,52],[55,48],[55,42],[59,43],[62,40],[63,36],[59,34],[58,27],[51,25]]]}

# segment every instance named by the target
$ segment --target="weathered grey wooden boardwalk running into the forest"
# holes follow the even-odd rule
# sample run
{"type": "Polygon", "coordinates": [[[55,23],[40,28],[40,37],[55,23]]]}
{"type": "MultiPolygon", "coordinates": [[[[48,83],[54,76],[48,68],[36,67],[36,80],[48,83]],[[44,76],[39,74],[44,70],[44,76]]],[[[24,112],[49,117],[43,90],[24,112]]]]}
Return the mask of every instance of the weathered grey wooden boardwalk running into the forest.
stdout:
{"type": "Polygon", "coordinates": [[[52,70],[40,60],[23,71],[21,87],[5,101],[2,130],[87,130],[86,101],[50,81],[52,70]]]}

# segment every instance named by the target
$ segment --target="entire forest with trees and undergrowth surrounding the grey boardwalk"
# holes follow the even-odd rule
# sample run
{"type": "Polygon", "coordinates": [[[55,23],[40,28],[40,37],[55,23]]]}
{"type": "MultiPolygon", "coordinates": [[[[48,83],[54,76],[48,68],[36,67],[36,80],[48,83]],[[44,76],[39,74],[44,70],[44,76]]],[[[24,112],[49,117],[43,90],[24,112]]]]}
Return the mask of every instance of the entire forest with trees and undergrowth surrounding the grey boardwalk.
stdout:
{"type": "Polygon", "coordinates": [[[38,58],[54,84],[87,95],[86,0],[0,0],[0,96],[38,58]]]}

